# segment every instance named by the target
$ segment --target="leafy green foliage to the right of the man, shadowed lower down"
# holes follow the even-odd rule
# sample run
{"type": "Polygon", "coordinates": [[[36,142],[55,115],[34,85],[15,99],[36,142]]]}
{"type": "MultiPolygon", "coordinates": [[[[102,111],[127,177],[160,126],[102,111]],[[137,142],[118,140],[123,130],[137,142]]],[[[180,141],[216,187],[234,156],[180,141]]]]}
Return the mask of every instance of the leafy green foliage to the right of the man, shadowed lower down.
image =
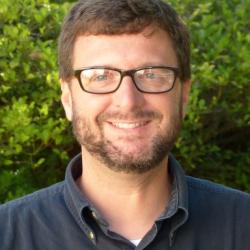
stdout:
{"type": "Polygon", "coordinates": [[[174,4],[190,27],[193,61],[176,154],[191,175],[250,191],[250,2],[174,4]]]}

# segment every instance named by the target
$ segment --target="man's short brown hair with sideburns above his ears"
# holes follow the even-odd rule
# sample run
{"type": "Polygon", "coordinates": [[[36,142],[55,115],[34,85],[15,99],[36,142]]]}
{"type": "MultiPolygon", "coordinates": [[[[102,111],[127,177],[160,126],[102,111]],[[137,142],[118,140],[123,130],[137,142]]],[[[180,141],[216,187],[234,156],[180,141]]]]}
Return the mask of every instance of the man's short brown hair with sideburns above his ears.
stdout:
{"type": "Polygon", "coordinates": [[[165,30],[172,39],[180,79],[190,79],[190,44],[186,26],[176,11],[161,0],[80,0],[64,20],[59,38],[60,78],[73,76],[72,55],[79,35],[136,34],[147,26],[165,30]]]}

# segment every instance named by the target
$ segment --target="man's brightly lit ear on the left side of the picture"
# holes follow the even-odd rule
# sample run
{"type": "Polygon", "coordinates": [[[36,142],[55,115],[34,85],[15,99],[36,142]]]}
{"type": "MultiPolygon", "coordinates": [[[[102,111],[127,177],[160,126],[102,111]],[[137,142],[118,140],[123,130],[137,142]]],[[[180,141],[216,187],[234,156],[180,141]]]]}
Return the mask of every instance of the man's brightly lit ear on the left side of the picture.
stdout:
{"type": "Polygon", "coordinates": [[[72,121],[73,117],[73,103],[72,103],[72,93],[68,82],[60,79],[61,84],[61,102],[66,114],[66,117],[69,121],[72,121]]]}

